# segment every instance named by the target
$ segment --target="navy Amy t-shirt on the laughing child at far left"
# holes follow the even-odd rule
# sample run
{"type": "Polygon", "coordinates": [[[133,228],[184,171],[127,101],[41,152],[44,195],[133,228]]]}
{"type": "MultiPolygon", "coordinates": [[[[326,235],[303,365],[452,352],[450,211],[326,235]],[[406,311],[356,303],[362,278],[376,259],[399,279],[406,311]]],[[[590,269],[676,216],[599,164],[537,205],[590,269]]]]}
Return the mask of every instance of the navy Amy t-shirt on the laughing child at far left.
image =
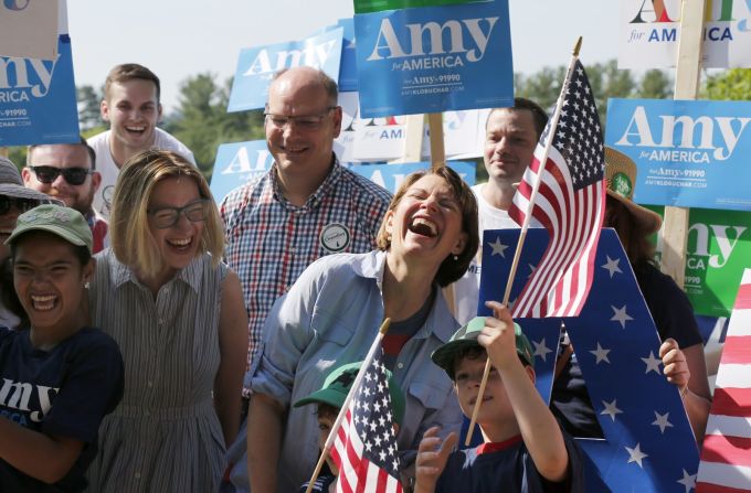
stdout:
{"type": "Polygon", "coordinates": [[[123,356],[98,329],[84,328],[50,351],[35,349],[28,330],[0,328],[0,419],[47,436],[84,442],[68,473],[46,484],[0,459],[2,492],[80,492],[96,454],[99,424],[123,398],[123,356]]]}

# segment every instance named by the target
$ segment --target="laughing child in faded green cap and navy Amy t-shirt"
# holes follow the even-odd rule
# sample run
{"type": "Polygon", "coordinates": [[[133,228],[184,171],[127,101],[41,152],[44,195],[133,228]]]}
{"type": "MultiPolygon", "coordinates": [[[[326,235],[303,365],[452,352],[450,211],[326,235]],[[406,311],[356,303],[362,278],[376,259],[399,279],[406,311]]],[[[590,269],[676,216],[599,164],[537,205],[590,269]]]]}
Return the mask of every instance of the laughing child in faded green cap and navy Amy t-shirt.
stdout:
{"type": "Polygon", "coordinates": [[[123,398],[117,343],[83,310],[94,274],[78,211],[38,205],[6,240],[29,326],[0,326],[0,491],[81,492],[99,425],[123,398]]]}

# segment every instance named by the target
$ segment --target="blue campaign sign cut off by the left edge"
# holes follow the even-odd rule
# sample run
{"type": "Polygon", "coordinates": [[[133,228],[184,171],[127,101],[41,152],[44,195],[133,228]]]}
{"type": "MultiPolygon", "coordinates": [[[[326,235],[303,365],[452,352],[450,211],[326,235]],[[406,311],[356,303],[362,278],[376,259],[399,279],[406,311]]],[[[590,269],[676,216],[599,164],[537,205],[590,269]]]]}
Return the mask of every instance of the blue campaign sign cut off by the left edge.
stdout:
{"type": "Polygon", "coordinates": [[[71,39],[54,61],[0,56],[0,146],[77,142],[71,39]]]}

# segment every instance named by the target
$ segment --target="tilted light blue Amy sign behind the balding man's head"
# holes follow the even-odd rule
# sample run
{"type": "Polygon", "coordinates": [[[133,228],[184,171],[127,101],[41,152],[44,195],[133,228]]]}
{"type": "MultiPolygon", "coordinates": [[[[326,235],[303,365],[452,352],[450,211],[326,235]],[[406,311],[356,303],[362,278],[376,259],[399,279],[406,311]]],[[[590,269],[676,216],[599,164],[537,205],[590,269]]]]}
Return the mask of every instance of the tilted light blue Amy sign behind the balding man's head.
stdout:
{"type": "Polygon", "coordinates": [[[343,31],[343,28],[335,28],[302,41],[242,50],[226,110],[263,108],[268,97],[268,84],[282,68],[311,66],[338,81],[343,31]]]}

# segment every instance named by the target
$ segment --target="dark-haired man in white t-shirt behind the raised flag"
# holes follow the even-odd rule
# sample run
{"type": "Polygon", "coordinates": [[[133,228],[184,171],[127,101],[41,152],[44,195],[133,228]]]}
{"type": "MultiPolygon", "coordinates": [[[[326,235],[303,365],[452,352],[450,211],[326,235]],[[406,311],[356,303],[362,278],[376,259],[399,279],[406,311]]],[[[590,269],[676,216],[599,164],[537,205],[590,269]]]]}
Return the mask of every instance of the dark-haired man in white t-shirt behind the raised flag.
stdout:
{"type": "Polygon", "coordinates": [[[520,97],[514,99],[512,107],[495,108],[488,115],[483,150],[488,181],[472,189],[477,196],[480,250],[464,277],[453,285],[454,315],[461,324],[477,315],[485,229],[519,227],[507,212],[516,192],[514,184],[521,181],[532,162],[547,122],[548,115],[539,105],[520,97]]]}

